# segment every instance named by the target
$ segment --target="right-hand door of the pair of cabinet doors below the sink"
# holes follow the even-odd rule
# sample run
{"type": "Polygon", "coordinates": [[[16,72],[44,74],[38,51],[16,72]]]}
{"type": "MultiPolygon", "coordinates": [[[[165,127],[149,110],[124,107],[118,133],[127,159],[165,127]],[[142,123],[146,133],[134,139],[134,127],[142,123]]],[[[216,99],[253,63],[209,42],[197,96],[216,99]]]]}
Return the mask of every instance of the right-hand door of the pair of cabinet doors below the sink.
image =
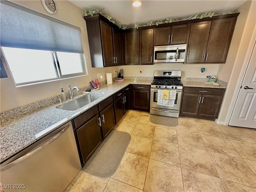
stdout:
{"type": "Polygon", "coordinates": [[[114,105],[111,104],[102,112],[100,112],[101,126],[103,138],[112,131],[115,126],[115,117],[114,117],[114,105]]]}

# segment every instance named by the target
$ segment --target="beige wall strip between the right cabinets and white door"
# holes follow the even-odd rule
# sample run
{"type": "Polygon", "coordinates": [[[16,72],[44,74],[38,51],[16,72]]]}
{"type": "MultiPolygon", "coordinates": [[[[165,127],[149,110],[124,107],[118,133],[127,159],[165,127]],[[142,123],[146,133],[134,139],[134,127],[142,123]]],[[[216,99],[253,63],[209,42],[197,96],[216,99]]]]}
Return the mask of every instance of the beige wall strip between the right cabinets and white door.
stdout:
{"type": "Polygon", "coordinates": [[[234,96],[234,91],[237,86],[240,86],[237,85],[238,78],[242,71],[244,60],[246,60],[246,54],[256,26],[256,1],[245,2],[237,11],[241,13],[238,16],[234,36],[232,38],[230,47],[231,53],[229,53],[228,62],[219,69],[220,78],[228,79],[229,81],[218,117],[219,122],[228,121],[227,114],[234,96]]]}

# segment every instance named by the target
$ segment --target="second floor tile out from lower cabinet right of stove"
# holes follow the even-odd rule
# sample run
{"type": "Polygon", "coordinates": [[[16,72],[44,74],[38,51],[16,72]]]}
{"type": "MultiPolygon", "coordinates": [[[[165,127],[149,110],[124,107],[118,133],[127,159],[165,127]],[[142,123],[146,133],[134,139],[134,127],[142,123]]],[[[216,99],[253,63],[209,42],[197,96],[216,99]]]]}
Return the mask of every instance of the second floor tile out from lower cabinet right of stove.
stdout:
{"type": "Polygon", "coordinates": [[[201,134],[208,151],[241,157],[227,138],[220,138],[201,134]]]}

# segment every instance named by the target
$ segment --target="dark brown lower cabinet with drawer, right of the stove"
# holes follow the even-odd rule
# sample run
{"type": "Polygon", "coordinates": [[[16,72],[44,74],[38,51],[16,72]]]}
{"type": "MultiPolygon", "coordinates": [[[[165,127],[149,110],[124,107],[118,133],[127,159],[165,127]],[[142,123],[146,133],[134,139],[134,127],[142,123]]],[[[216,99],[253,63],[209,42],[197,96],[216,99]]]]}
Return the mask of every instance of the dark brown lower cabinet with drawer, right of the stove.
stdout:
{"type": "Polygon", "coordinates": [[[184,87],[180,116],[215,120],[225,89],[184,87]]]}

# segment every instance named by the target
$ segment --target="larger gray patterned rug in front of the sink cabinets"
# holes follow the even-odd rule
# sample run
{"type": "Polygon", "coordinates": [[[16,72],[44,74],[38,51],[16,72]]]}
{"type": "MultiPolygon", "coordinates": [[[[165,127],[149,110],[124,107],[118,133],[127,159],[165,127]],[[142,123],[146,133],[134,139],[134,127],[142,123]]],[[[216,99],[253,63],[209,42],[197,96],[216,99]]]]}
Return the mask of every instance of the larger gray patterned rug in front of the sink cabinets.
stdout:
{"type": "Polygon", "coordinates": [[[111,177],[116,172],[130,140],[130,134],[113,130],[86,162],[82,171],[101,178],[111,177]]]}

